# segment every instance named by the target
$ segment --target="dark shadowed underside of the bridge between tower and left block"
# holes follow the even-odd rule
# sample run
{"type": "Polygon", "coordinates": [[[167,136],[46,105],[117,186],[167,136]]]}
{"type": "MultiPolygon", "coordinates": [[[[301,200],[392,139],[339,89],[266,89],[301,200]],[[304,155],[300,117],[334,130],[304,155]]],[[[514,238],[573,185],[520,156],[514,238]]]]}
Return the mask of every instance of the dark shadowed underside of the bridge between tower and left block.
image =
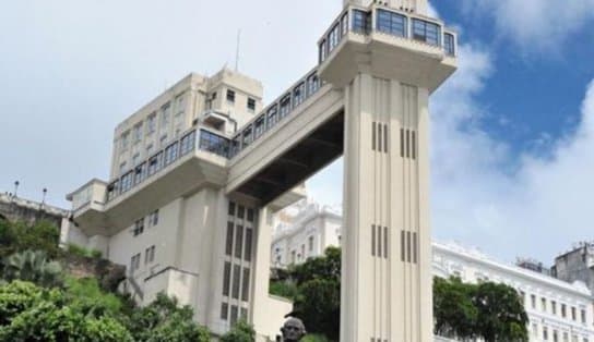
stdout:
{"type": "Polygon", "coordinates": [[[268,205],[342,156],[343,149],[344,111],[340,111],[243,183],[237,192],[268,205]]]}

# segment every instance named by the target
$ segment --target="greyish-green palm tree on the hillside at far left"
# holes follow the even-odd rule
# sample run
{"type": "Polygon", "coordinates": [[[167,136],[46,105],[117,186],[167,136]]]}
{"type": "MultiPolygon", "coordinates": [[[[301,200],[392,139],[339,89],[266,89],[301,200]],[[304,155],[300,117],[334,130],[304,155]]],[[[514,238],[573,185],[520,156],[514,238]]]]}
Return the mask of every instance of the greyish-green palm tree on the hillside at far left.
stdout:
{"type": "Polygon", "coordinates": [[[62,267],[52,261],[45,252],[25,251],[8,256],[4,260],[8,281],[20,279],[40,286],[52,288],[62,284],[62,267]]]}

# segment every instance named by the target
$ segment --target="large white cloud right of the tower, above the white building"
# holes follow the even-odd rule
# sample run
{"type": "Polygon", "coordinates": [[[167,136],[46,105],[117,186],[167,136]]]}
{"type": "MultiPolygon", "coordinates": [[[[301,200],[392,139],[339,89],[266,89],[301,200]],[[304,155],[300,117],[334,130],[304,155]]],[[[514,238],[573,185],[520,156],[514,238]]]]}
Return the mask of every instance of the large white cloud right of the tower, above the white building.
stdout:
{"type": "Polygon", "coordinates": [[[510,146],[473,125],[482,115],[474,96],[488,81],[489,54],[462,47],[460,70],[432,99],[433,235],[455,239],[508,260],[545,262],[571,243],[594,239],[594,82],[571,136],[547,142],[547,157],[525,154],[509,172],[510,146]]]}

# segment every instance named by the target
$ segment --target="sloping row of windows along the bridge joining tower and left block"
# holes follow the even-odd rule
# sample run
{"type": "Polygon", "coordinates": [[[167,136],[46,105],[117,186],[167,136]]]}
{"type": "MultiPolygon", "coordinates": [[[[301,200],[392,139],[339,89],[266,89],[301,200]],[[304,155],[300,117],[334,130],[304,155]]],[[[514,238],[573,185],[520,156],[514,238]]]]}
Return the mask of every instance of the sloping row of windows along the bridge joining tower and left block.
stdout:
{"type": "MultiPolygon", "coordinates": [[[[317,73],[310,74],[301,82],[290,89],[287,94],[281,97],[281,99],[266,108],[259,117],[257,117],[252,123],[247,124],[246,127],[236,135],[230,142],[228,156],[235,157],[239,151],[251,145],[256,139],[261,137],[266,131],[275,126],[281,120],[287,117],[292,110],[305,102],[309,97],[316,94],[321,86],[320,78],[317,73]]],[[[226,152],[225,149],[221,150],[222,156],[226,152]]]]}

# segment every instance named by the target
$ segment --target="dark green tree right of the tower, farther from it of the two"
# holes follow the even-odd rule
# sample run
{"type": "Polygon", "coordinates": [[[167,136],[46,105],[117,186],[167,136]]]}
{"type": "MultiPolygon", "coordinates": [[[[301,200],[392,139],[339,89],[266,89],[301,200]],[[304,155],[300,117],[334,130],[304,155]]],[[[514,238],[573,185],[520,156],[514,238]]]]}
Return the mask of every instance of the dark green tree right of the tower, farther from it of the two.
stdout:
{"type": "Polygon", "coordinates": [[[486,342],[528,341],[528,318],[514,289],[484,282],[476,286],[473,302],[478,312],[476,334],[486,342]]]}

